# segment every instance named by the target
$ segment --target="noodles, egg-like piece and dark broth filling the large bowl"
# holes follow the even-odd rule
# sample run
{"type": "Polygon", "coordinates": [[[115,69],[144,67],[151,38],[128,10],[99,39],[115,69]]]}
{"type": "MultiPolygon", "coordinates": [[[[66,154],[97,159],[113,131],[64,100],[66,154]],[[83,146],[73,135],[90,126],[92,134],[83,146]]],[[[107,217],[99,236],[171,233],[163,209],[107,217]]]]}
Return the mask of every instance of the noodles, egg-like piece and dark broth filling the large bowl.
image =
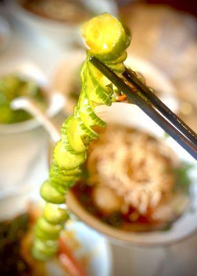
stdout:
{"type": "Polygon", "coordinates": [[[110,226],[136,231],[164,228],[182,215],[189,167],[165,141],[118,125],[98,133],[87,151],[85,176],[72,188],[88,212],[110,226]]]}

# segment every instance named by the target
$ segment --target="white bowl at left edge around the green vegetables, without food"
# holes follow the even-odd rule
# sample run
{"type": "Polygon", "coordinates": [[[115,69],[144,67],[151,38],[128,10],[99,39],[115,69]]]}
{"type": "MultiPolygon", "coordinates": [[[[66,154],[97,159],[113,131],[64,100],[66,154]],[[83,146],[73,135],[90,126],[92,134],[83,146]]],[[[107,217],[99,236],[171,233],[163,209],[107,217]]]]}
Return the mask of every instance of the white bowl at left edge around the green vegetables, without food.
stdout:
{"type": "MultiPolygon", "coordinates": [[[[54,117],[63,108],[64,100],[62,95],[50,90],[48,78],[34,63],[28,60],[17,60],[8,61],[3,66],[0,66],[0,76],[12,73],[27,79],[34,79],[44,89],[46,92],[45,96],[48,98],[46,114],[49,117],[54,117]]],[[[36,119],[29,119],[15,124],[0,124],[0,133],[23,132],[37,128],[38,126],[40,126],[40,123],[36,119]]]]}

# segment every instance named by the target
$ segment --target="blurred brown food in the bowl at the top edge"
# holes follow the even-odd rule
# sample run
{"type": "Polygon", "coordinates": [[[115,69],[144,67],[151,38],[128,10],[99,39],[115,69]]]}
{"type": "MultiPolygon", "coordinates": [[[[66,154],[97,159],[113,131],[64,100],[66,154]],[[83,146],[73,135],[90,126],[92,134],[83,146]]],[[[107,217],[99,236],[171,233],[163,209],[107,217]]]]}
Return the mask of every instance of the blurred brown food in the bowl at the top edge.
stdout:
{"type": "Polygon", "coordinates": [[[25,0],[22,6],[40,17],[60,22],[81,23],[91,16],[79,0],[25,0]]]}

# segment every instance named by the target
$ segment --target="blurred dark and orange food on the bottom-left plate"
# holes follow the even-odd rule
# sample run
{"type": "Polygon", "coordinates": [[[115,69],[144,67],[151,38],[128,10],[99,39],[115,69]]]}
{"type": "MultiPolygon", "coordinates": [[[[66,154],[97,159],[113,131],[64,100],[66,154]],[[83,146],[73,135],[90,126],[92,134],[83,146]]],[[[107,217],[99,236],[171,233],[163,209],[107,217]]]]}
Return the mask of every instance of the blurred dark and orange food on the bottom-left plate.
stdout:
{"type": "MultiPolygon", "coordinates": [[[[38,206],[33,204],[27,213],[0,222],[1,276],[49,275],[48,266],[30,255],[32,231],[39,212],[38,206]]],[[[74,251],[81,247],[74,233],[63,231],[59,244],[59,253],[50,262],[50,269],[56,269],[57,275],[85,276],[84,267],[88,265],[88,258],[85,254],[79,259],[74,256],[74,251]]]]}

